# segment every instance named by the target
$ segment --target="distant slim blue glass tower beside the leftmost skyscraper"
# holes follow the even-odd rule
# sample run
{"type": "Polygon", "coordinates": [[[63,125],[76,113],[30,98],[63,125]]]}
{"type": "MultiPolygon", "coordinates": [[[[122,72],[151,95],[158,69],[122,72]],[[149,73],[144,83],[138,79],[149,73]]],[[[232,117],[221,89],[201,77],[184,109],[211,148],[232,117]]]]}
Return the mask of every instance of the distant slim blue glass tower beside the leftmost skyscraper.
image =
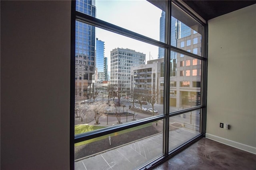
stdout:
{"type": "Polygon", "coordinates": [[[105,73],[104,73],[104,41],[99,40],[96,38],[96,70],[97,74],[95,75],[95,81],[98,82],[100,80],[105,80],[105,73]]]}

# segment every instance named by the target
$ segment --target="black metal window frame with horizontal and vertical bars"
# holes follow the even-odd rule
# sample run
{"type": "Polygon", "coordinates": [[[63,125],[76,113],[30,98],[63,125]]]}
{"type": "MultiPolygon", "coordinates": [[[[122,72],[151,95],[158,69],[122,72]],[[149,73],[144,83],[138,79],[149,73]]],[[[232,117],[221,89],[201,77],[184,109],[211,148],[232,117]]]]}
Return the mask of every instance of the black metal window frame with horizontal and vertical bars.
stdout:
{"type": "MultiPolygon", "coordinates": [[[[157,41],[155,39],[146,37],[144,35],[140,35],[138,33],[135,33],[133,31],[130,31],[128,29],[124,29],[122,27],[118,27],[114,24],[108,23],[106,21],[99,20],[97,18],[94,18],[92,16],[88,16],[86,14],[83,14],[81,12],[76,11],[76,1],[71,1],[71,54],[70,54],[70,169],[74,170],[74,144],[93,139],[95,137],[99,137],[102,135],[108,135],[110,133],[115,133],[120,130],[124,129],[129,129],[132,127],[140,126],[146,123],[151,123],[154,121],[158,121],[163,119],[165,127],[163,129],[163,135],[164,135],[164,148],[163,148],[163,155],[157,158],[156,160],[148,163],[145,166],[142,166],[140,169],[146,168],[146,166],[157,166],[161,162],[167,160],[170,158],[170,156],[176,154],[178,151],[182,150],[183,147],[186,145],[189,145],[193,143],[194,141],[200,139],[201,137],[205,136],[206,132],[206,95],[207,95],[207,33],[208,33],[208,25],[204,21],[200,20],[196,15],[194,15],[192,12],[184,6],[181,2],[171,2],[171,1],[166,1],[166,43],[157,41]],[[171,45],[170,42],[170,21],[171,21],[171,6],[172,3],[181,8],[184,12],[186,12],[188,15],[190,15],[192,18],[194,18],[198,23],[203,25],[203,33],[202,33],[202,56],[195,55],[193,53],[190,53],[188,51],[185,51],[183,49],[179,49],[177,47],[174,47],[171,45]],[[75,107],[75,34],[76,34],[76,20],[81,21],[83,23],[90,24],[92,26],[96,26],[102,29],[105,29],[107,31],[111,31],[114,33],[118,33],[120,35],[130,37],[132,39],[137,39],[139,41],[149,43],[151,45],[156,45],[158,47],[164,48],[166,57],[164,58],[164,63],[166,63],[165,66],[165,72],[164,74],[164,90],[165,90],[165,95],[164,95],[164,113],[163,115],[158,115],[154,117],[149,117],[148,119],[144,119],[138,122],[131,122],[129,124],[122,124],[119,125],[118,127],[109,127],[107,129],[102,129],[100,131],[91,131],[85,134],[80,134],[80,135],[74,135],[74,107],[75,107]],[[193,57],[194,59],[199,59],[202,61],[201,64],[201,105],[196,106],[196,107],[191,107],[188,109],[182,109],[178,111],[171,112],[169,111],[169,102],[170,102],[170,56],[171,56],[171,51],[174,51],[176,53],[180,53],[182,55],[188,55],[189,57],[193,57]],[[189,111],[194,111],[194,110],[202,110],[202,117],[201,117],[201,133],[200,135],[197,135],[196,137],[190,139],[189,141],[186,141],[179,147],[175,148],[174,150],[168,150],[168,141],[169,141],[169,118],[175,115],[180,115],[183,113],[187,113],[189,111]]],[[[193,42],[194,43],[194,42],[193,42]]]]}

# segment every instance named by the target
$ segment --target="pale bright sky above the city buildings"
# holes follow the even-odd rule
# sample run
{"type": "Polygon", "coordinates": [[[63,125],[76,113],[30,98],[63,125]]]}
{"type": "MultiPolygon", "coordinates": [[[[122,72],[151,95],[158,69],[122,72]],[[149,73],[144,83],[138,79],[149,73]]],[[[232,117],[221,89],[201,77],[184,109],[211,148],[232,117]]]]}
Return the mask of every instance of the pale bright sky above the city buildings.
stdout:
{"type": "MultiPolygon", "coordinates": [[[[146,0],[96,0],[95,6],[96,18],[159,40],[162,10],[146,0]]],[[[96,37],[105,42],[108,71],[110,71],[110,51],[117,47],[144,53],[146,54],[146,61],[158,58],[157,46],[100,28],[96,28],[96,37]]]]}

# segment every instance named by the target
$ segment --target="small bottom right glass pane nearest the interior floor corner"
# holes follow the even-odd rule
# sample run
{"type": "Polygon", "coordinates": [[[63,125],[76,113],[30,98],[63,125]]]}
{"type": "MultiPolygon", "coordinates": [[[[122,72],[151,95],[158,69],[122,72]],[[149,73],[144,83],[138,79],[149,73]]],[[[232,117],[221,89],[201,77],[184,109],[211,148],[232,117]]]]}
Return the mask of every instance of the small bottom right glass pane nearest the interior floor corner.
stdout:
{"type": "Polygon", "coordinates": [[[201,109],[170,117],[169,150],[201,133],[201,109]]]}

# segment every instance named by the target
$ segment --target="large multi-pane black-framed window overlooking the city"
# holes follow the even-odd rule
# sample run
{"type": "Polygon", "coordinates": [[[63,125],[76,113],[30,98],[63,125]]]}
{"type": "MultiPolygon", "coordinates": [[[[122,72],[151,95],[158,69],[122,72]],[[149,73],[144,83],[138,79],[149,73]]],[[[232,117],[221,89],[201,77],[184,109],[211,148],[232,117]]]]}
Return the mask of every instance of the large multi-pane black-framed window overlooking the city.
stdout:
{"type": "Polygon", "coordinates": [[[178,2],[72,3],[71,169],[144,169],[202,137],[204,23],[178,2]]]}

